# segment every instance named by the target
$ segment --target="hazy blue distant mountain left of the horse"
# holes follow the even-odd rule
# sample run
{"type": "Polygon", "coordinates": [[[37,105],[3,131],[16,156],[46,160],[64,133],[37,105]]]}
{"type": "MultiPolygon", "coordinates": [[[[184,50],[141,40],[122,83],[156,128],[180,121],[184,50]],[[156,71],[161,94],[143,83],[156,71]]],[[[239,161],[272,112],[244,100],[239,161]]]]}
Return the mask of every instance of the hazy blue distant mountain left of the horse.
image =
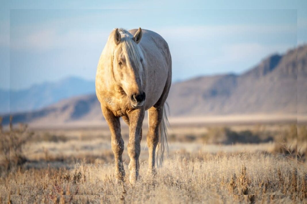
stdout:
{"type": "Polygon", "coordinates": [[[20,91],[0,90],[0,113],[33,111],[62,99],[95,92],[95,82],[69,77],[56,83],[42,83],[20,91]]]}

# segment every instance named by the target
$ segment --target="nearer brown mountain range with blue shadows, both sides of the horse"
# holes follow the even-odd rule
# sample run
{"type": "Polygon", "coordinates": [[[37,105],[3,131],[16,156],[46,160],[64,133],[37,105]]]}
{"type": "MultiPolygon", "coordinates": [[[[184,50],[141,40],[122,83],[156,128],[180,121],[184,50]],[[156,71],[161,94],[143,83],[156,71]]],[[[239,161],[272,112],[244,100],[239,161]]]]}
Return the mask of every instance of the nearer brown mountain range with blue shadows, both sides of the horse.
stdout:
{"type": "MultiPolygon", "coordinates": [[[[95,89],[93,89],[95,90],[95,89]]],[[[307,115],[307,45],[273,54],[242,74],[201,76],[173,83],[167,99],[171,116],[227,114],[307,115]]],[[[103,118],[95,94],[68,98],[14,122],[66,123],[103,118]]],[[[4,116],[7,124],[9,116],[4,116]]]]}

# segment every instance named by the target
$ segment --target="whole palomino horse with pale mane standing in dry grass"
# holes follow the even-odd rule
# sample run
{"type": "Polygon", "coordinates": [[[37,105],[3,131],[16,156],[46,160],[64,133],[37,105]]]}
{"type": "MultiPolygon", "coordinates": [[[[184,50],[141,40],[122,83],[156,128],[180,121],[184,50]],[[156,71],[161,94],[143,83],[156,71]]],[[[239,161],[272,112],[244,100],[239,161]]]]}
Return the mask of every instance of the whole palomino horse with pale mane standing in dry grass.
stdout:
{"type": "Polygon", "coordinates": [[[125,176],[120,117],[129,125],[130,183],[138,179],[142,123],[146,110],[149,173],[155,174],[156,147],[161,164],[167,146],[165,100],[171,78],[169,47],[159,34],[141,28],[130,31],[116,28],[111,32],[97,67],[96,95],[111,131],[117,180],[121,181],[125,176]]]}

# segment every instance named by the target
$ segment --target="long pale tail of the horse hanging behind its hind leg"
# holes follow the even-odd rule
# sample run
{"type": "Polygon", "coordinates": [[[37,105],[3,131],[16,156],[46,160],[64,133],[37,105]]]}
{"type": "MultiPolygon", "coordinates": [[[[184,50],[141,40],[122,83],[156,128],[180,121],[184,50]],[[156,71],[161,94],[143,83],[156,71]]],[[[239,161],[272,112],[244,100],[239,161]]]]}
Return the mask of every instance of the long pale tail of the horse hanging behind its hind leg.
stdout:
{"type": "Polygon", "coordinates": [[[167,155],[169,151],[169,145],[167,144],[167,128],[169,127],[169,120],[167,119],[165,106],[167,106],[169,111],[169,104],[165,102],[163,106],[162,120],[159,126],[159,142],[156,149],[157,166],[162,166],[165,149],[167,155]]]}

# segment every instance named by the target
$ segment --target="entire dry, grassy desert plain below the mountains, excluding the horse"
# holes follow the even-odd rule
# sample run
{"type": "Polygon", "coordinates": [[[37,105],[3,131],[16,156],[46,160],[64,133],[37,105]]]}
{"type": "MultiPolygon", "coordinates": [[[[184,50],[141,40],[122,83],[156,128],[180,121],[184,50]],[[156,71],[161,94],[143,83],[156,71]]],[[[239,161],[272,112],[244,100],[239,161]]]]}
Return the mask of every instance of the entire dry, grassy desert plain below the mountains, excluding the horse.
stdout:
{"type": "Polygon", "coordinates": [[[146,125],[140,179],[117,183],[109,129],[2,129],[1,203],[307,203],[307,125],[172,124],[169,152],[147,175],[146,125]]]}

